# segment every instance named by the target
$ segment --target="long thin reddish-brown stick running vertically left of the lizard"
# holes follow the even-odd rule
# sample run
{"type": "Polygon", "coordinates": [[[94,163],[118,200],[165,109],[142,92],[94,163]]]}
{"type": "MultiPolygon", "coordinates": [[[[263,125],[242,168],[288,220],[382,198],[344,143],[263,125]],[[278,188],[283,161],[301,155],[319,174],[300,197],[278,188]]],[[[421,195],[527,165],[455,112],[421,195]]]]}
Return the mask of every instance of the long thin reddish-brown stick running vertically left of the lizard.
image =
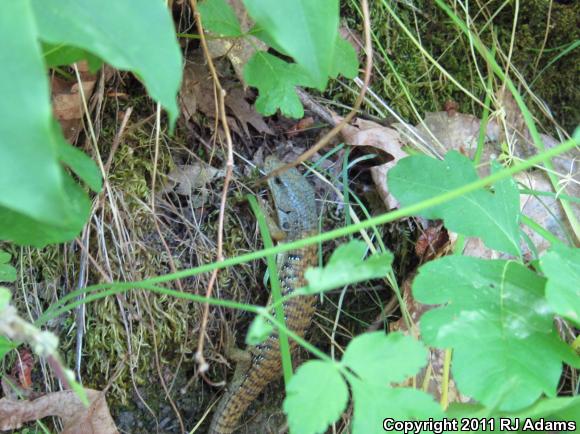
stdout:
{"type": "MultiPolygon", "coordinates": [[[[230,134],[230,128],[228,126],[228,122],[226,119],[226,107],[225,107],[225,91],[222,88],[222,85],[219,81],[217,71],[214,67],[213,61],[211,59],[211,55],[209,53],[209,49],[207,48],[207,41],[205,40],[205,35],[203,33],[203,26],[201,23],[201,16],[197,11],[197,0],[190,0],[191,9],[193,10],[193,15],[195,18],[195,22],[197,25],[197,31],[199,33],[201,46],[203,48],[203,53],[207,59],[207,64],[209,66],[209,70],[211,72],[211,76],[213,79],[213,83],[215,89],[217,90],[218,94],[218,102],[219,102],[219,117],[221,120],[222,128],[224,129],[224,133],[226,135],[226,146],[227,146],[227,161],[226,161],[226,176],[224,179],[224,187],[222,191],[222,197],[220,202],[220,213],[218,219],[218,242],[217,242],[217,262],[222,262],[224,260],[223,257],[223,241],[224,241],[224,216],[226,210],[226,199],[228,195],[228,187],[230,185],[230,180],[232,178],[232,172],[234,167],[234,152],[232,146],[232,136],[230,134]]],[[[218,270],[214,270],[210,280],[207,285],[207,290],[205,296],[207,298],[211,297],[213,287],[217,280],[217,273],[218,270]]],[[[199,364],[199,372],[203,374],[209,368],[205,358],[203,357],[203,345],[205,342],[205,333],[207,329],[207,321],[209,317],[209,304],[205,303],[203,306],[203,316],[201,319],[201,326],[199,329],[199,340],[197,346],[197,352],[195,353],[195,360],[199,364]]]]}

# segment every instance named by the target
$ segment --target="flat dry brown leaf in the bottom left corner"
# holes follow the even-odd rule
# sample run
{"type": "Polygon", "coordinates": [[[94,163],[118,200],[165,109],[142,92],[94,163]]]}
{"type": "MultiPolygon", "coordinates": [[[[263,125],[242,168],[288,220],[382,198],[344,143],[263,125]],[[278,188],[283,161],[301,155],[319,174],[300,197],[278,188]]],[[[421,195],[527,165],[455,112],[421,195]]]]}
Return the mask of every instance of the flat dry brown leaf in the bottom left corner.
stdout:
{"type": "Polygon", "coordinates": [[[0,430],[18,429],[24,423],[58,416],[63,434],[116,434],[119,431],[109,412],[104,394],[85,389],[90,402],[86,408],[72,390],[49,393],[34,401],[0,399],[0,430]]]}

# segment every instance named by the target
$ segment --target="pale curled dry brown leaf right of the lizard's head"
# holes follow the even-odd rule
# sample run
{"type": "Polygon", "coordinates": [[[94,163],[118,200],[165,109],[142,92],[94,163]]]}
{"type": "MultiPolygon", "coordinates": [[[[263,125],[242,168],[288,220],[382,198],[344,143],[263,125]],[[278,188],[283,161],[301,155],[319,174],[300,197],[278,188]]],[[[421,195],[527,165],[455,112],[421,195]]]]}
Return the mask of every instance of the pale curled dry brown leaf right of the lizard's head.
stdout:
{"type": "MultiPolygon", "coordinates": [[[[340,121],[339,118],[338,121],[340,121]]],[[[389,193],[387,188],[387,173],[401,158],[407,156],[407,153],[401,149],[404,143],[399,132],[363,119],[357,119],[354,124],[355,126],[346,125],[342,129],[342,136],[347,143],[352,146],[368,146],[378,149],[388,154],[391,159],[385,164],[372,167],[371,176],[388,209],[397,208],[399,202],[389,193]]]]}

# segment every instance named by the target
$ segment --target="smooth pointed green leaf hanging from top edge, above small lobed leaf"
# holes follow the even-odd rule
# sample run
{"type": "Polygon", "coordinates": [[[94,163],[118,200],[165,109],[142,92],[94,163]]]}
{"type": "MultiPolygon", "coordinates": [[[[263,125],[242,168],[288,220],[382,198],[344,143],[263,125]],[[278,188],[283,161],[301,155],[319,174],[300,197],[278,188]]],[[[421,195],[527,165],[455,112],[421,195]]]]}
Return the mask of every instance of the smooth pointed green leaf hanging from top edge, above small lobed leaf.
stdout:
{"type": "Polygon", "coordinates": [[[244,0],[256,21],[324,90],[333,67],[338,35],[338,0],[244,0]]]}

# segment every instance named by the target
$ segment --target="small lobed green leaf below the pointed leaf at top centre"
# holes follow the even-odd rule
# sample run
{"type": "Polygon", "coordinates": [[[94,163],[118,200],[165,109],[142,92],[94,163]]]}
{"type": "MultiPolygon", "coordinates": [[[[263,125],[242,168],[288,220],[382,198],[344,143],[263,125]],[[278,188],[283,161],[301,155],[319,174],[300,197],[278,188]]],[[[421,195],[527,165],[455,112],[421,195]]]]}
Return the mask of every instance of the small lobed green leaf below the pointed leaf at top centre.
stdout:
{"type": "Polygon", "coordinates": [[[279,108],[288,117],[304,116],[296,86],[308,86],[310,79],[299,65],[258,51],[244,67],[244,80],[258,88],[256,109],[263,115],[272,115],[279,108]]]}

